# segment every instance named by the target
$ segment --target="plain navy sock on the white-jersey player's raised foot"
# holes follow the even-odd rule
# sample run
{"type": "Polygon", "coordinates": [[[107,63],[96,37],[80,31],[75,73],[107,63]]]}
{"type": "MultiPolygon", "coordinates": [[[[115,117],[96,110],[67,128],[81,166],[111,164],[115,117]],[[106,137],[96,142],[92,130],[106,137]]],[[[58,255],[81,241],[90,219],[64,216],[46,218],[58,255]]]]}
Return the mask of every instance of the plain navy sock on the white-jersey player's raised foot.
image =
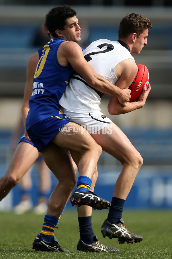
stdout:
{"type": "Polygon", "coordinates": [[[117,197],[112,197],[111,206],[109,208],[109,213],[107,220],[112,224],[118,224],[119,220],[122,218],[122,212],[125,200],[117,197]]]}

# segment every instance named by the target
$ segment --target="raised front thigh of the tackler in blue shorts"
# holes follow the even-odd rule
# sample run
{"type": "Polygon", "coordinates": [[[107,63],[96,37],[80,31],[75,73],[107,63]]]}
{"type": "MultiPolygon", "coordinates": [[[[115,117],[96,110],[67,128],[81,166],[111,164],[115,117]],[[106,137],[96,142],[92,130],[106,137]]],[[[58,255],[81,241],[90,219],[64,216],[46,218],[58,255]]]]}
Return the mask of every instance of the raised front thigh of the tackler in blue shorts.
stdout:
{"type": "Polygon", "coordinates": [[[52,139],[53,143],[62,148],[75,151],[81,155],[83,155],[87,150],[99,152],[101,149],[87,130],[80,125],[70,122],[65,125],[65,129],[65,131],[62,129],[52,139]]]}

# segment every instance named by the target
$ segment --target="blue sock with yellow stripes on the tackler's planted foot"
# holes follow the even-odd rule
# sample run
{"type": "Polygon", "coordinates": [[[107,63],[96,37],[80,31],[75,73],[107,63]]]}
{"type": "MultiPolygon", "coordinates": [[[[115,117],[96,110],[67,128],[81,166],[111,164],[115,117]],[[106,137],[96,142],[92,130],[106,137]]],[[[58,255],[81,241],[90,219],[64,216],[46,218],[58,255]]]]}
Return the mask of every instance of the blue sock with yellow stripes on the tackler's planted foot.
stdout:
{"type": "Polygon", "coordinates": [[[50,242],[54,236],[54,230],[58,224],[58,218],[52,215],[45,215],[44,224],[42,226],[42,231],[40,235],[46,242],[50,242]]]}

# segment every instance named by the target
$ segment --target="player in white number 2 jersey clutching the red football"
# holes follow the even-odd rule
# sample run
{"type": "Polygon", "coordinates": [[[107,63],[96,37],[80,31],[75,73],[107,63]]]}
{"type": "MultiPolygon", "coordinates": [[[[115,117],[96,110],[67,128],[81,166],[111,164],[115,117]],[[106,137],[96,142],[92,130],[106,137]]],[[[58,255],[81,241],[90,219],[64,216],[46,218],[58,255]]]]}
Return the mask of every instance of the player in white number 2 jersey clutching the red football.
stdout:
{"type": "MultiPolygon", "coordinates": [[[[147,45],[151,21],[138,14],[127,14],[120,22],[118,41],[101,39],[91,43],[85,50],[85,59],[97,73],[121,89],[133,82],[138,67],[131,54],[139,54],[147,45]]],[[[111,97],[108,104],[110,114],[128,113],[144,106],[150,92],[144,86],[138,101],[124,107],[118,98],[111,97]]],[[[100,110],[103,94],[90,87],[77,73],[71,77],[60,99],[64,114],[87,129],[102,149],[118,159],[122,171],[116,181],[111,207],[101,232],[103,237],[118,238],[120,243],[137,243],[142,236],[130,233],[124,226],[122,211],[134,179],[142,166],[143,159],[126,135],[100,110]]]]}

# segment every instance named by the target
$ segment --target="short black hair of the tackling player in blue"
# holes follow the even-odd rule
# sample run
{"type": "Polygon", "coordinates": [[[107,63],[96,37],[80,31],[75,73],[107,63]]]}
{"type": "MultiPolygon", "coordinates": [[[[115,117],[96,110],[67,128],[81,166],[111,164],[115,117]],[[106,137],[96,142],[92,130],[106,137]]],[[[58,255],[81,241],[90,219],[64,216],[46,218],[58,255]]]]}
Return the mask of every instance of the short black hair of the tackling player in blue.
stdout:
{"type": "Polygon", "coordinates": [[[45,17],[45,24],[52,37],[56,38],[56,30],[64,30],[67,19],[75,16],[77,13],[68,5],[54,7],[49,10],[45,17]]]}

